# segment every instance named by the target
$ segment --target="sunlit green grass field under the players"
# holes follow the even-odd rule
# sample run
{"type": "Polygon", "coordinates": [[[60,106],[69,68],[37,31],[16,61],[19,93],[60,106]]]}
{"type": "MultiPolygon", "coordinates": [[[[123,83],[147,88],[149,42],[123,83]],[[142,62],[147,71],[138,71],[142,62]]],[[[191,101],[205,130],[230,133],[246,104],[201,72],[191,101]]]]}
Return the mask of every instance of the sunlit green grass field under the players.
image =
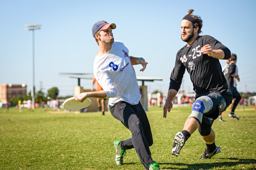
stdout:
{"type": "MultiPolygon", "coordinates": [[[[128,150],[124,165],[114,160],[116,139],[131,133],[106,112],[50,113],[0,108],[0,169],[115,169],[143,170],[134,149],[128,150]]],[[[236,111],[240,120],[223,115],[225,122],[213,123],[216,145],[221,152],[212,159],[199,159],[205,144],[198,131],[186,142],[180,155],[172,155],[173,136],[181,131],[191,112],[189,107],[173,108],[163,118],[163,108],[147,111],[154,144],[152,158],[161,169],[256,169],[256,111],[246,107],[236,111]]]]}

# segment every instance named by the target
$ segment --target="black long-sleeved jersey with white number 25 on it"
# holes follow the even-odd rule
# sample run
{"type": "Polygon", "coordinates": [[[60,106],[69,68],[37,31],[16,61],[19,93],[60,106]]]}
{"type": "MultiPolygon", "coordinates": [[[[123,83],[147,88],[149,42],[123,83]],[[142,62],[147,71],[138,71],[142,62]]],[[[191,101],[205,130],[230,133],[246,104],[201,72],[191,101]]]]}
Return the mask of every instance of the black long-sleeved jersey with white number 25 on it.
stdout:
{"type": "Polygon", "coordinates": [[[209,35],[198,36],[191,46],[184,46],[177,55],[170,77],[169,89],[179,90],[185,69],[187,69],[197,95],[211,92],[226,92],[227,81],[222,73],[219,59],[202,54],[200,49],[209,44],[213,50],[221,49],[224,59],[230,58],[230,50],[209,35]]]}

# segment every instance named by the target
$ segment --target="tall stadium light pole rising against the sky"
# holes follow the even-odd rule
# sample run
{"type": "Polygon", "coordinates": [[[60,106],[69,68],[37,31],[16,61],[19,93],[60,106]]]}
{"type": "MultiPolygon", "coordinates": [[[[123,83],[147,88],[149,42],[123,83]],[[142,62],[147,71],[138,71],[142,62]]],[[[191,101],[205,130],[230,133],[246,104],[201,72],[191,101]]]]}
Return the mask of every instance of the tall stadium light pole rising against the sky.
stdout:
{"type": "Polygon", "coordinates": [[[31,96],[32,96],[32,109],[35,109],[35,33],[34,30],[39,30],[41,24],[28,24],[25,25],[25,30],[32,31],[33,33],[33,40],[32,40],[32,46],[33,46],[33,83],[32,83],[32,90],[31,90],[31,96]]]}

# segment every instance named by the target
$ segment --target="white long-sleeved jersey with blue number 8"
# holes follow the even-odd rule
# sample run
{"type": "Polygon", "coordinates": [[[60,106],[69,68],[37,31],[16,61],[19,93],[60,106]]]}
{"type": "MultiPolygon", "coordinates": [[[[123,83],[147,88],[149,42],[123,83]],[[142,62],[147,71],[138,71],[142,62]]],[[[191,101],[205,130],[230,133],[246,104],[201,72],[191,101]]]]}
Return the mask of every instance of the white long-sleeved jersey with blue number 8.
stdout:
{"type": "Polygon", "coordinates": [[[139,103],[141,94],[135,70],[128,49],[121,41],[115,41],[107,53],[96,55],[93,74],[107,92],[109,105],[119,101],[133,105],[139,103]]]}

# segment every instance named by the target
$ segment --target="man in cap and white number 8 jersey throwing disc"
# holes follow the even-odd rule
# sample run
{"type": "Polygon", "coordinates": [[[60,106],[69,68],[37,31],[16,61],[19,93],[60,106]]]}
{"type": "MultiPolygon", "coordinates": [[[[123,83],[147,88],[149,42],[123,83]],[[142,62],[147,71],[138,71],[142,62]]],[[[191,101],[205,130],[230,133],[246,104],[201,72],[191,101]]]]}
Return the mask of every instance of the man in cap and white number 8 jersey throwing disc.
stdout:
{"type": "Polygon", "coordinates": [[[134,148],[146,170],[157,170],[159,164],[152,160],[149,150],[153,144],[152,133],[140,104],[140,88],[133,68],[133,65],[141,64],[143,68],[140,71],[144,71],[148,63],[143,58],[129,56],[124,44],[114,41],[112,29],[115,28],[115,24],[106,21],[98,21],[92,27],[92,36],[99,45],[93,74],[103,90],[84,92],[74,97],[80,102],[88,97],[109,98],[112,116],[132,132],[132,138],[114,142],[117,165],[123,164],[126,150],[134,148]]]}

